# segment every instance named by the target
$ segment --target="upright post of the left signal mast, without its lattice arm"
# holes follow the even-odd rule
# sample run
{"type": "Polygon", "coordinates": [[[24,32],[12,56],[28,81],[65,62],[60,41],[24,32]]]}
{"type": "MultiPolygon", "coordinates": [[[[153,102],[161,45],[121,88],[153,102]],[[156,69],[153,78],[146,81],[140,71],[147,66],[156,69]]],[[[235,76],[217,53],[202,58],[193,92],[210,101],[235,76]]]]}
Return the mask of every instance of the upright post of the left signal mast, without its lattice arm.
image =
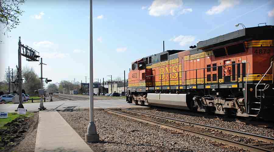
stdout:
{"type": "Polygon", "coordinates": [[[19,94],[18,108],[24,108],[22,104],[21,36],[19,36],[19,42],[18,42],[18,94],[19,94]]]}

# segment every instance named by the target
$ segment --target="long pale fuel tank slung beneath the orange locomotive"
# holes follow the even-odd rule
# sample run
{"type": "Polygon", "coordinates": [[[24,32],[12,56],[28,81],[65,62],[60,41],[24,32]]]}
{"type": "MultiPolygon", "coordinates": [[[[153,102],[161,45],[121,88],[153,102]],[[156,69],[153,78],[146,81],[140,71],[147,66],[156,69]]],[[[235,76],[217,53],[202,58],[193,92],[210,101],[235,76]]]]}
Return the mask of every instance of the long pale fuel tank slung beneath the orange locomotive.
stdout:
{"type": "Polygon", "coordinates": [[[160,93],[148,93],[147,101],[151,105],[177,108],[177,109],[188,109],[187,94],[160,94],[160,93]]]}

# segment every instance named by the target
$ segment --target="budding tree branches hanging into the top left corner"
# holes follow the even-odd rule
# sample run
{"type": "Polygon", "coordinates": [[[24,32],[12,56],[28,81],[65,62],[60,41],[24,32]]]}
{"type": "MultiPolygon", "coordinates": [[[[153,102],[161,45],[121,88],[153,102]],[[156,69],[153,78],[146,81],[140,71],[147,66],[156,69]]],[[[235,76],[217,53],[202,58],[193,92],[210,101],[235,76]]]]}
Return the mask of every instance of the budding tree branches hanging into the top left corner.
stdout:
{"type": "Polygon", "coordinates": [[[0,0],[0,23],[4,26],[4,35],[19,25],[18,17],[24,12],[19,5],[24,2],[25,0],[0,0]]]}

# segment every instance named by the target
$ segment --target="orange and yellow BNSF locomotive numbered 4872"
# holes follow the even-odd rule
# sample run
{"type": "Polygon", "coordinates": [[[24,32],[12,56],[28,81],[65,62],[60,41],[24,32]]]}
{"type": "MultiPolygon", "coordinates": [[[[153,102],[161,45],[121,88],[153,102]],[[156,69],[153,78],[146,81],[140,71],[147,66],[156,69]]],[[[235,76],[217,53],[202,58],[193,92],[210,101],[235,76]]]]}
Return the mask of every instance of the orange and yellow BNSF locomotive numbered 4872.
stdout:
{"type": "Polygon", "coordinates": [[[132,62],[127,102],[274,119],[274,26],[240,29],[132,62]]]}

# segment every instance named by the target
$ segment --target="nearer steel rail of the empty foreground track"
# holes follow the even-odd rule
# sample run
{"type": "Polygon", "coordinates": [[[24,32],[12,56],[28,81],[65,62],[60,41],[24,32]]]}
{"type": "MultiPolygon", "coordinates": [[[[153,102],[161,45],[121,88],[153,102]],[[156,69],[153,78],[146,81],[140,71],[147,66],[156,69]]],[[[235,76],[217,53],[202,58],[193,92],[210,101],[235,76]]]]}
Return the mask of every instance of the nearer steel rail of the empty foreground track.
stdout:
{"type": "Polygon", "coordinates": [[[221,138],[221,137],[218,137],[218,136],[212,136],[212,135],[202,133],[202,132],[197,132],[197,131],[194,131],[194,130],[189,130],[189,129],[185,129],[185,128],[181,128],[181,127],[177,127],[177,126],[172,126],[172,125],[169,125],[169,124],[164,124],[164,123],[149,120],[149,119],[144,119],[144,118],[140,118],[140,117],[136,117],[136,116],[131,116],[131,115],[128,115],[128,114],[125,114],[125,113],[122,113],[122,112],[117,112],[117,111],[113,111],[113,110],[109,110],[109,109],[105,109],[105,108],[103,108],[103,109],[107,112],[114,113],[114,114],[117,114],[117,115],[120,115],[120,116],[128,117],[128,118],[135,119],[135,120],[142,121],[142,122],[146,122],[146,123],[149,123],[149,124],[154,124],[154,125],[157,125],[157,126],[161,126],[161,127],[164,127],[164,128],[171,129],[171,130],[176,130],[176,131],[181,132],[181,133],[189,133],[189,134],[192,134],[192,135],[195,135],[195,136],[198,136],[198,137],[206,138],[208,140],[213,140],[213,141],[216,141],[216,142],[219,142],[219,143],[225,143],[225,144],[230,145],[232,147],[237,147],[237,148],[240,148],[240,149],[242,148],[244,150],[250,150],[250,151],[253,151],[253,152],[265,152],[265,151],[274,152],[273,150],[265,149],[265,148],[262,148],[262,147],[248,145],[248,144],[245,144],[245,143],[240,143],[240,142],[237,142],[237,141],[224,139],[224,138],[221,138]]]}

